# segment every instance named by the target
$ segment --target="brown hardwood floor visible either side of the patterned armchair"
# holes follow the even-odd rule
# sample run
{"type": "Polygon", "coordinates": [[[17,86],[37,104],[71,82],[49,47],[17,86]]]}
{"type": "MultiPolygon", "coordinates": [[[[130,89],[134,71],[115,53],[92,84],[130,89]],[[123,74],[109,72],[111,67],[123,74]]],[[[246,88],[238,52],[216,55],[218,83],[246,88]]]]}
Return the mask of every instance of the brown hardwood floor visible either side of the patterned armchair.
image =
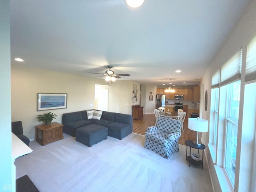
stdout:
{"type": "MultiPolygon", "coordinates": [[[[144,135],[146,129],[150,126],[154,126],[156,123],[155,115],[154,114],[143,114],[142,119],[140,120],[133,120],[133,132],[144,135]]],[[[181,136],[179,140],[179,144],[185,145],[186,140],[196,140],[196,132],[188,129],[188,118],[186,115],[184,125],[183,125],[184,132],[181,130],[181,136]]],[[[200,132],[198,138],[201,138],[202,133],[200,132]]]]}

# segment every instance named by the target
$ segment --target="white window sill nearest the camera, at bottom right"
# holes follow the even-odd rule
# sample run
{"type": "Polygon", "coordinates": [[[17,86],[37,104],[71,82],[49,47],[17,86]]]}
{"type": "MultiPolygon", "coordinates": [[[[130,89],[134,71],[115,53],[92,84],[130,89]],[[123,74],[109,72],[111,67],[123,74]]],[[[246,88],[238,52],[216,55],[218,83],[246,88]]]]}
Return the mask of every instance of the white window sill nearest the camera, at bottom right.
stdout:
{"type": "Polygon", "coordinates": [[[228,178],[226,177],[223,168],[216,165],[214,165],[214,168],[218,177],[218,181],[220,183],[221,190],[225,192],[234,192],[234,189],[232,188],[232,186],[230,186],[230,183],[228,181],[228,178]]]}

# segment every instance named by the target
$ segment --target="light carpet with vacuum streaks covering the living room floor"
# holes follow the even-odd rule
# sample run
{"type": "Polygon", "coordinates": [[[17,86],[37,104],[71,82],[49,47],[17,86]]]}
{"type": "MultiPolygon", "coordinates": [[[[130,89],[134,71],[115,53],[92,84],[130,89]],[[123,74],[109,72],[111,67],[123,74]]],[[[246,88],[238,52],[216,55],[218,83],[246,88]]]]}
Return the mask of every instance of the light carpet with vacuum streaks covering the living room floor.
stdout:
{"type": "MultiPolygon", "coordinates": [[[[212,192],[207,164],[188,166],[186,146],[168,160],[144,148],[145,137],[108,137],[92,147],[64,134],[15,160],[16,178],[28,175],[40,192],[212,192]]],[[[206,162],[206,161],[205,161],[206,162]]]]}

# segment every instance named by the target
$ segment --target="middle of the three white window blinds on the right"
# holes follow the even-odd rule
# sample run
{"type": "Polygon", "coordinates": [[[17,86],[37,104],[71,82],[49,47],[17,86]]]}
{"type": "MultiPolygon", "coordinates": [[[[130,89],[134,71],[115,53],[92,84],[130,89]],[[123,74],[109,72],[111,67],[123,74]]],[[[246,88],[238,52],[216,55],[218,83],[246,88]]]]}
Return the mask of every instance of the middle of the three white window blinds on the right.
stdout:
{"type": "Polygon", "coordinates": [[[220,86],[228,84],[241,77],[242,49],[239,50],[220,69],[220,86]]]}

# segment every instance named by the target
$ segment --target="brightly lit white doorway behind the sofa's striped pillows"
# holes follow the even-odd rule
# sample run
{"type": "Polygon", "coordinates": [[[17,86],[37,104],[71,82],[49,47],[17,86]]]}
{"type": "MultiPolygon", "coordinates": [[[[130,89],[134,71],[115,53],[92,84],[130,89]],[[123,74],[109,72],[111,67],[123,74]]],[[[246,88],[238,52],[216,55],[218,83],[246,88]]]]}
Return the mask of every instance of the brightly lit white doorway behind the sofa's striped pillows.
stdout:
{"type": "Polygon", "coordinates": [[[108,111],[108,86],[95,85],[94,109],[108,111]]]}

